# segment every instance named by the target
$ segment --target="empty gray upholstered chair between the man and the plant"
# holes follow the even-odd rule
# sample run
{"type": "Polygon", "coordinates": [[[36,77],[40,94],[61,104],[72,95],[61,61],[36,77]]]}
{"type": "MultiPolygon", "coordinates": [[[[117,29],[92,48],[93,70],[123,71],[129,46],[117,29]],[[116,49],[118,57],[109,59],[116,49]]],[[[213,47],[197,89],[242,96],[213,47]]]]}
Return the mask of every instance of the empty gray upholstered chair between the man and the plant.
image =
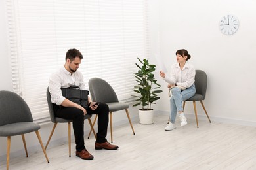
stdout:
{"type": "MultiPolygon", "coordinates": [[[[112,112],[116,112],[116,111],[125,109],[127,118],[129,120],[131,129],[133,131],[133,135],[135,135],[135,132],[133,129],[133,124],[131,124],[131,118],[130,118],[129,112],[128,112],[129,105],[127,105],[126,103],[119,102],[116,92],[114,91],[112,86],[110,86],[110,84],[108,84],[108,82],[106,82],[105,80],[102,80],[101,78],[91,78],[89,80],[89,90],[91,93],[92,101],[106,103],[110,109],[111,142],[113,142],[112,112]]],[[[95,125],[96,119],[97,119],[97,114],[95,116],[95,120],[93,121],[93,126],[95,125]]],[[[91,131],[88,135],[88,138],[90,137],[90,135],[91,135],[91,131]]]]}

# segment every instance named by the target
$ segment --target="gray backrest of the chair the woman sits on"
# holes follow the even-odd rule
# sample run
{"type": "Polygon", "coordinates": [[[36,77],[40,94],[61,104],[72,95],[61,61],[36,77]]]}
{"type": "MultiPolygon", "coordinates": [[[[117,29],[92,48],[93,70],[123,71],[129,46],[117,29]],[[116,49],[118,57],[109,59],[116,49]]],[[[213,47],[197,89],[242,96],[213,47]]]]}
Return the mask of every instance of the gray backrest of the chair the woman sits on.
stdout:
{"type": "Polygon", "coordinates": [[[207,75],[202,70],[196,70],[195,76],[196,93],[203,95],[203,100],[205,99],[207,90],[207,75]]]}

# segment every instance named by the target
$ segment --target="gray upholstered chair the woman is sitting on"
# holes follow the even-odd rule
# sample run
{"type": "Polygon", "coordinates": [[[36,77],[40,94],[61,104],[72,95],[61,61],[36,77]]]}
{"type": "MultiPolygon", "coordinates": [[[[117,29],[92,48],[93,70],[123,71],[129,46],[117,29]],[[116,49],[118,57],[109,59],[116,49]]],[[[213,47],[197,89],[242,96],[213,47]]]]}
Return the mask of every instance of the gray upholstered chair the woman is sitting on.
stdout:
{"type": "MultiPolygon", "coordinates": [[[[190,99],[187,99],[186,101],[193,101],[194,105],[194,111],[196,116],[196,125],[198,126],[198,113],[196,111],[196,101],[200,101],[203,110],[205,111],[205,114],[211,123],[211,120],[207,114],[207,111],[203,105],[203,100],[205,99],[206,90],[207,90],[207,75],[202,70],[196,70],[196,76],[195,76],[195,85],[196,85],[196,94],[193,97],[190,97],[190,99]]],[[[183,102],[183,110],[185,108],[186,101],[183,102]]]]}

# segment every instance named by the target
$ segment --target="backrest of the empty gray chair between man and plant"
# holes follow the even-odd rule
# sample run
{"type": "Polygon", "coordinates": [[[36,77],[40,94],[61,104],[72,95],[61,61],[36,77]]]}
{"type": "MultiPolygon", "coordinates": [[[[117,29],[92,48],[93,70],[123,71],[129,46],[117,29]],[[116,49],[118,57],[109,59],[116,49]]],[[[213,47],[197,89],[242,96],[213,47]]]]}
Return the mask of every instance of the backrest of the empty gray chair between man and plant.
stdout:
{"type": "Polygon", "coordinates": [[[102,103],[119,102],[114,89],[101,78],[91,78],[88,82],[92,101],[102,103]]]}

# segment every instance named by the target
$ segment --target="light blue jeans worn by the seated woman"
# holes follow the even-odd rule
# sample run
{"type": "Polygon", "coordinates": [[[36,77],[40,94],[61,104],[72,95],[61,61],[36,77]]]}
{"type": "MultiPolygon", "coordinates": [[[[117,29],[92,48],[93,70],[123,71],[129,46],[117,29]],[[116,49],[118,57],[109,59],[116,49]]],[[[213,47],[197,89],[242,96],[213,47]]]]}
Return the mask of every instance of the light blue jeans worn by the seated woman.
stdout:
{"type": "Polygon", "coordinates": [[[170,99],[170,107],[171,107],[171,123],[175,123],[175,119],[177,116],[177,112],[183,112],[182,101],[189,99],[194,96],[196,93],[196,86],[193,84],[190,88],[186,88],[185,90],[181,90],[180,88],[173,88],[171,90],[171,99],[170,99]]]}

